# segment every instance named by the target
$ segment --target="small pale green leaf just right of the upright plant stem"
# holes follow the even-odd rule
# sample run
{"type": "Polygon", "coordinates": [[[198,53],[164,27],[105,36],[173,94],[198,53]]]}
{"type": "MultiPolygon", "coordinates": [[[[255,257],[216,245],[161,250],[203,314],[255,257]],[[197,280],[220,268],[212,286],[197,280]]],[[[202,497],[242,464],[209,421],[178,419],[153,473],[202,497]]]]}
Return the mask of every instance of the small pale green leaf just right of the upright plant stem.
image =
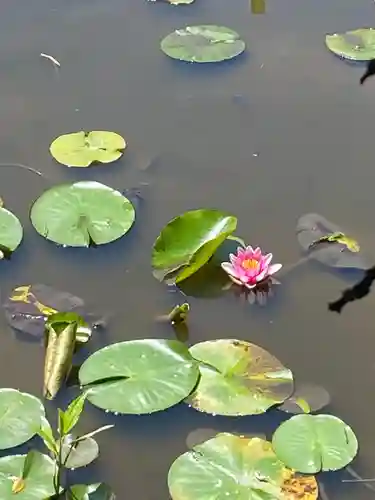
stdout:
{"type": "Polygon", "coordinates": [[[61,462],[67,469],[78,469],[91,464],[99,456],[99,446],[95,439],[86,438],[75,442],[69,435],[64,438],[61,462]]]}

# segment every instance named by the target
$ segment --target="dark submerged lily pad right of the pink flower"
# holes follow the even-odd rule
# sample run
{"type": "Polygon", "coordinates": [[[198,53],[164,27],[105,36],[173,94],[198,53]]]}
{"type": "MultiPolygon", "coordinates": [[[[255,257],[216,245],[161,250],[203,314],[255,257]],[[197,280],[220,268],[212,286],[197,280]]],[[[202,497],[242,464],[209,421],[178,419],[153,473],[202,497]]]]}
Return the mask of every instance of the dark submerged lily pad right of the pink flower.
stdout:
{"type": "MultiPolygon", "coordinates": [[[[339,226],[315,213],[305,214],[297,223],[297,239],[311,259],[335,268],[367,269],[369,267],[357,242],[339,226]],[[328,236],[343,234],[352,250],[340,241],[324,241],[328,236]]],[[[340,238],[338,238],[340,240],[340,238]]]]}

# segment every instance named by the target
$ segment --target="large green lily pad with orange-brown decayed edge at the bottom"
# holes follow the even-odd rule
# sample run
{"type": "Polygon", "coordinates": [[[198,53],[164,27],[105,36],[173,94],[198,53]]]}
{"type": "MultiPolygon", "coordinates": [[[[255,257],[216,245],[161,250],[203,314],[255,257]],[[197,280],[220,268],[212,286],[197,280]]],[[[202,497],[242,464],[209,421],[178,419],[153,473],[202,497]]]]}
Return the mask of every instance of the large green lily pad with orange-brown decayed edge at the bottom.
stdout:
{"type": "Polygon", "coordinates": [[[271,443],[229,433],[195,446],[168,474],[173,500],[315,500],[314,476],[299,477],[278,460],[271,443]]]}

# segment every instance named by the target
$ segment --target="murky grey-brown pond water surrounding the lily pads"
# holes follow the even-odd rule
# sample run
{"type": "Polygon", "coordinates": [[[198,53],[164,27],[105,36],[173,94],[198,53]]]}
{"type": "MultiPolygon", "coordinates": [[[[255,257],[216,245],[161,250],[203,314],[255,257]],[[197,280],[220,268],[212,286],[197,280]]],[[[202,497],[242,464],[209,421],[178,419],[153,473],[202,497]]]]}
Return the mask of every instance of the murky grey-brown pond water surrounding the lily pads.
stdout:
{"type": "MultiPolygon", "coordinates": [[[[297,261],[298,217],[318,212],[344,226],[375,254],[375,79],[328,52],[327,32],[367,26],[369,0],[266,0],[252,15],[248,0],[196,0],[173,7],[144,0],[3,0],[0,17],[0,163],[21,163],[48,178],[0,166],[0,196],[22,221],[25,239],[0,268],[1,294],[25,283],[70,291],[109,316],[93,350],[121,340],[173,338],[154,321],[183,299],[157,282],[150,251],[160,229],[193,208],[227,210],[246,242],[297,261]],[[168,59],[160,40],[188,24],[225,25],[247,52],[217,66],[168,59]],[[61,63],[40,58],[44,52],[61,63]],[[128,142],[120,162],[67,169],[48,148],[62,133],[115,130],[128,142]],[[122,240],[100,249],[63,249],[32,228],[31,202],[49,184],[94,179],[140,188],[137,221],[122,240]]],[[[374,259],[375,260],[375,259],[374,259]]],[[[300,380],[324,386],[327,411],[355,430],[352,464],[375,477],[375,297],[328,310],[352,277],[313,264],[282,279],[276,300],[259,310],[231,294],[188,298],[190,342],[235,337],[270,350],[300,380]]],[[[17,341],[0,317],[0,384],[41,395],[43,349],[17,341]]],[[[51,415],[75,395],[63,391],[51,415]]],[[[82,430],[115,423],[98,437],[101,456],[81,472],[108,482],[119,499],[169,497],[170,464],[186,437],[211,427],[270,436],[283,416],[223,418],[185,405],[151,416],[115,417],[87,404],[82,430]]],[[[363,485],[323,476],[330,499],[366,500],[363,485]]]]}

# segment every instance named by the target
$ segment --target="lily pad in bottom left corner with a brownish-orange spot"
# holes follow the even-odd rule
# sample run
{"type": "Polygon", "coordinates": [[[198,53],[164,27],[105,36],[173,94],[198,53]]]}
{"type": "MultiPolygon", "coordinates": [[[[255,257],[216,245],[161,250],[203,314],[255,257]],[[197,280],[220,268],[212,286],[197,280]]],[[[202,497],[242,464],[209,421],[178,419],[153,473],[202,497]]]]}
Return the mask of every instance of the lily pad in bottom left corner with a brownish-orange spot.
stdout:
{"type": "MultiPolygon", "coordinates": [[[[27,411],[27,410],[26,410],[27,411]]],[[[26,415],[25,411],[25,415],[26,415]]],[[[12,455],[0,458],[0,498],[1,500],[41,500],[50,498],[55,492],[53,460],[39,452],[33,453],[27,477],[22,489],[15,493],[14,484],[22,476],[27,455],[12,455]]]]}

